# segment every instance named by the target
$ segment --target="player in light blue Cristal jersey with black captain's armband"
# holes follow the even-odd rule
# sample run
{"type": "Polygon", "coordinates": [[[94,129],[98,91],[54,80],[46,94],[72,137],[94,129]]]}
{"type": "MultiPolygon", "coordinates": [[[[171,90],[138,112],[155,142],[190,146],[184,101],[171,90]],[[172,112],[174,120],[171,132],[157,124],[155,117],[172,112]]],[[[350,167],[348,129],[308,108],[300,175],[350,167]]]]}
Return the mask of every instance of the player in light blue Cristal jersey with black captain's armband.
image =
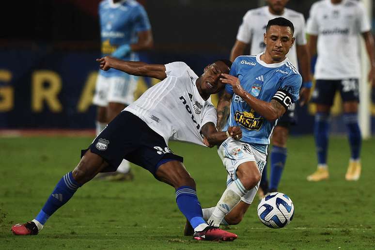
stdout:
{"type": "MultiPolygon", "coordinates": [[[[266,51],[237,57],[230,75],[222,74],[227,85],[218,104],[218,129],[238,125],[242,139],[227,139],[218,149],[228,178],[217,206],[203,209],[203,219],[213,226],[242,220],[259,187],[272,130],[298,99],[302,78],[286,58],[295,41],[293,32],[289,20],[269,20],[264,34],[266,51]]],[[[192,233],[188,231],[187,226],[184,233],[192,233]]]]}

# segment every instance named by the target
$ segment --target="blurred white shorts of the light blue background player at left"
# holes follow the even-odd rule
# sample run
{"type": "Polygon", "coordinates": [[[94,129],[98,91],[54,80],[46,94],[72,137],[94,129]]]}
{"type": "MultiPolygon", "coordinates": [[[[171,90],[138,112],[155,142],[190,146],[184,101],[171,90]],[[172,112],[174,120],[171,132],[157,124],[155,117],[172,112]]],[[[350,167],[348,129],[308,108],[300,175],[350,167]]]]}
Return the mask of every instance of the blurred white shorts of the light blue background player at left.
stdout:
{"type": "Polygon", "coordinates": [[[134,92],[137,89],[138,77],[124,74],[121,77],[103,77],[96,79],[93,103],[106,107],[109,102],[129,105],[134,102],[134,92]]]}

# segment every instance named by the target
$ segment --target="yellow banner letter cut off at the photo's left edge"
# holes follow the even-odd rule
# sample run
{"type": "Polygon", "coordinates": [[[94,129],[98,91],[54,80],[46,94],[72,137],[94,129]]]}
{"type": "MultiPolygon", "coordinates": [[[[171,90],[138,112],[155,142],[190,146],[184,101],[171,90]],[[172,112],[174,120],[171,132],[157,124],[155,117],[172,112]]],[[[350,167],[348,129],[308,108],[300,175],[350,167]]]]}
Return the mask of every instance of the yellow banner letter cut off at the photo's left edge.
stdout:
{"type": "MultiPolygon", "coordinates": [[[[9,70],[0,70],[0,81],[10,82],[12,73],[9,70]]],[[[14,107],[14,91],[12,86],[0,86],[0,112],[12,110],[14,107]]]]}

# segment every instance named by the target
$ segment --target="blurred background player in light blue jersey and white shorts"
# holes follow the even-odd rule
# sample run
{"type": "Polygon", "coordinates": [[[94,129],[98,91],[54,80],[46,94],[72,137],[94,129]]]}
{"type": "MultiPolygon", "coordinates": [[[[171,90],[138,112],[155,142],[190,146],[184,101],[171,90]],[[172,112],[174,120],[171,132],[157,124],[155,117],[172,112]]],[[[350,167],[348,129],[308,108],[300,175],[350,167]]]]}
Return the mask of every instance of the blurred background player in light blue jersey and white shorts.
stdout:
{"type": "MultiPolygon", "coordinates": [[[[135,0],[103,0],[99,4],[102,55],[125,61],[139,61],[137,51],[153,47],[151,25],[146,11],[135,0]]],[[[98,106],[96,134],[133,103],[138,77],[114,69],[99,71],[93,103],[98,106]]],[[[124,160],[117,172],[98,176],[107,180],[130,180],[129,162],[124,160]]]]}

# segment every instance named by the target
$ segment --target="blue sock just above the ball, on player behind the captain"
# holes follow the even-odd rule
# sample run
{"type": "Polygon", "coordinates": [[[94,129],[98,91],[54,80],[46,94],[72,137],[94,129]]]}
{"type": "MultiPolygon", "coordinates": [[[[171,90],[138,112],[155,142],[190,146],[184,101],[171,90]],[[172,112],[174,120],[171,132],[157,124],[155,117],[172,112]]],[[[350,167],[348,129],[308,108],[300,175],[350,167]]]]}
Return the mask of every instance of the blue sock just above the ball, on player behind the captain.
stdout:
{"type": "Polygon", "coordinates": [[[271,176],[269,189],[279,187],[282,171],[286,162],[286,148],[273,146],[271,151],[271,176]]]}

